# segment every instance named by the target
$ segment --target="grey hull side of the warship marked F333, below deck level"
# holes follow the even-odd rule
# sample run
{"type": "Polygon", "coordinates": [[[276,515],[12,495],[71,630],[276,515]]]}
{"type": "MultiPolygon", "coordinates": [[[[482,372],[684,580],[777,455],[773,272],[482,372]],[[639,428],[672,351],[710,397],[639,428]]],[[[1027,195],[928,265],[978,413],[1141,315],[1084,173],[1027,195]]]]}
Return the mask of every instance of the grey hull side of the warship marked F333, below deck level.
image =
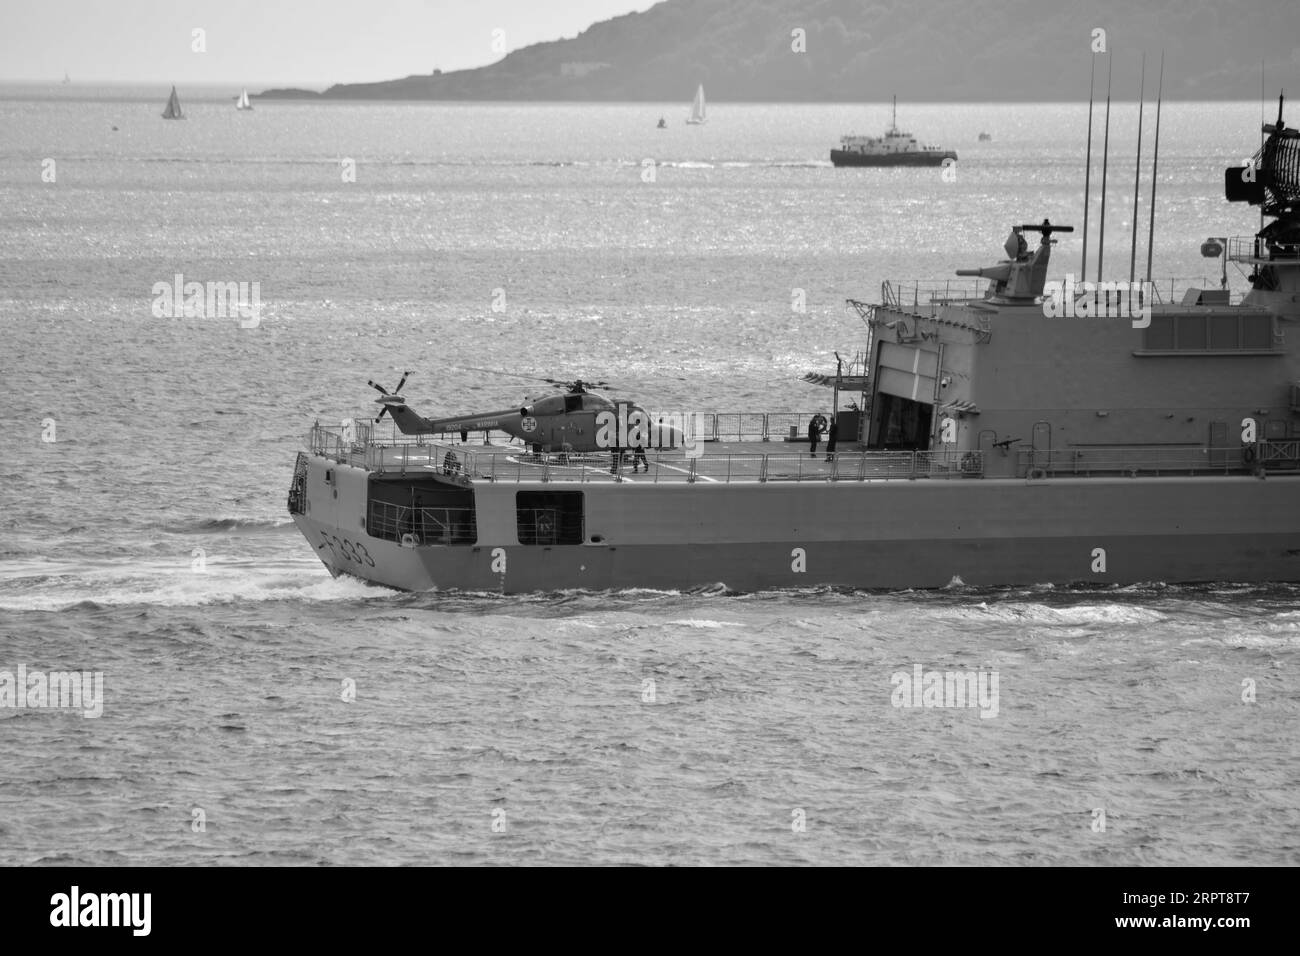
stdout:
{"type": "Polygon", "coordinates": [[[294,520],[332,574],[407,591],[1300,581],[1300,476],[573,484],[585,544],[550,546],[515,496],[563,483],[476,481],[473,544],[403,546],[359,528],[365,480],[312,458],[294,520]]]}

